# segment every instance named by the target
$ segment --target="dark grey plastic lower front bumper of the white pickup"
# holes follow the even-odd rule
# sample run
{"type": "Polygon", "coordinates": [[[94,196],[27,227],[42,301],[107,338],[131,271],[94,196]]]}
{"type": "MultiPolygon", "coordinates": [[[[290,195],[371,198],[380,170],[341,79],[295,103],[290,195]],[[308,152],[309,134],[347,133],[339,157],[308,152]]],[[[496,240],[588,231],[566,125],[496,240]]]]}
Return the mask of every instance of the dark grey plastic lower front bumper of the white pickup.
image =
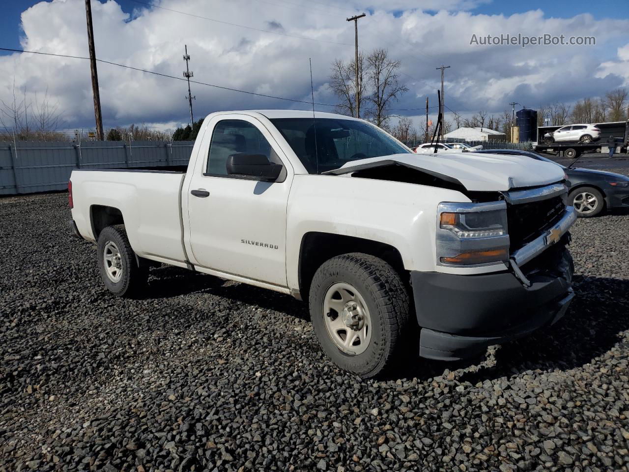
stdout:
{"type": "Polygon", "coordinates": [[[510,272],[462,276],[411,272],[420,356],[454,361],[517,339],[565,315],[572,257],[556,245],[521,267],[531,285],[510,272]]]}

